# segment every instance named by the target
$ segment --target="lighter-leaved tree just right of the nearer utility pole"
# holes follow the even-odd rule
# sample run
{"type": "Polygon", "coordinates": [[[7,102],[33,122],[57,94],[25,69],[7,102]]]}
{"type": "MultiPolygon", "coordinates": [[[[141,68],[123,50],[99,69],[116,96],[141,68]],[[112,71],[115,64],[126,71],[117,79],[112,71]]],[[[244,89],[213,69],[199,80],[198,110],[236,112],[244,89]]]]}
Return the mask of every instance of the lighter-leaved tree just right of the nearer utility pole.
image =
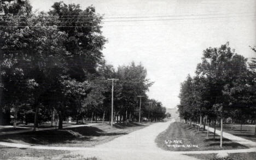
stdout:
{"type": "MultiPolygon", "coordinates": [[[[136,65],[135,62],[132,62],[130,66],[118,67],[117,78],[119,79],[119,86],[117,86],[117,91],[119,91],[119,94],[117,94],[119,97],[119,108],[116,112],[127,118],[127,112],[133,114],[136,109],[138,102],[137,96],[144,96],[142,98],[143,104],[147,102],[146,92],[153,85],[153,82],[147,79],[146,68],[141,63],[136,65]]],[[[144,107],[145,105],[142,105],[142,110],[144,107]]]]}

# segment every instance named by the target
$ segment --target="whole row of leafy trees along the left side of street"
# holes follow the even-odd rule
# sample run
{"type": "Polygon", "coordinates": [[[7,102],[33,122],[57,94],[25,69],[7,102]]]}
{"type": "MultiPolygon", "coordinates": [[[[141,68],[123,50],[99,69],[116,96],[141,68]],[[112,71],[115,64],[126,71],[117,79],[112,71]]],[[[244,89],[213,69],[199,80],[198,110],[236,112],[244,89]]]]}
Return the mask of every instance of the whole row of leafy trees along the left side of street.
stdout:
{"type": "Polygon", "coordinates": [[[31,122],[34,130],[57,117],[59,128],[67,117],[109,120],[112,84],[116,119],[138,120],[138,97],[142,120],[161,120],[166,109],[146,92],[153,85],[142,64],[114,69],[104,61],[107,42],[101,31],[102,16],[89,6],[56,2],[48,13],[32,13],[30,3],[0,2],[1,112],[31,122]],[[152,108],[149,103],[152,102],[152,108]],[[129,116],[129,118],[128,118],[129,116]]]}

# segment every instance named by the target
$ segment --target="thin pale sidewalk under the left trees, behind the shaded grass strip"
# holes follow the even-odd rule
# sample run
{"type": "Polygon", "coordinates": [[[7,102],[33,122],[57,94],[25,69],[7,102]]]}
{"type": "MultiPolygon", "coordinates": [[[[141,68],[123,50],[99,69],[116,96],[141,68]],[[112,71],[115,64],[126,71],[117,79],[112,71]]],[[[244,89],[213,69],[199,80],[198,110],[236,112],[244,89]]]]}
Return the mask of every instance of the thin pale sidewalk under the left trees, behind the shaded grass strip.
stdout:
{"type": "MultiPolygon", "coordinates": [[[[76,127],[84,127],[84,126],[95,126],[95,125],[102,125],[102,123],[91,123],[91,124],[86,124],[86,125],[72,125],[72,126],[65,126],[63,129],[67,128],[76,128],[76,127]]],[[[20,127],[21,128],[21,127],[20,127]]],[[[24,128],[24,127],[22,127],[24,128]]],[[[27,127],[26,127],[27,128],[27,127]]],[[[36,131],[47,131],[47,130],[54,130],[55,127],[48,127],[48,128],[37,128],[36,131]]],[[[31,129],[22,129],[18,131],[8,131],[8,132],[1,132],[0,135],[5,135],[5,134],[15,134],[15,133],[25,133],[25,132],[31,132],[33,131],[33,128],[31,129]]]]}

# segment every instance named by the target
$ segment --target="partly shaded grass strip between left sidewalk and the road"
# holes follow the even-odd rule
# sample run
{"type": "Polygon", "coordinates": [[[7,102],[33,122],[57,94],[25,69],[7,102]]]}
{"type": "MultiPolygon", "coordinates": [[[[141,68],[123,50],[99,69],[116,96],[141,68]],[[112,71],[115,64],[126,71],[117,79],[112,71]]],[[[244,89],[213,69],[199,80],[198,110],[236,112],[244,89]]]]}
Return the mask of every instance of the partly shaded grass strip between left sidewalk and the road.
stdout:
{"type": "Polygon", "coordinates": [[[146,126],[135,123],[127,123],[127,126],[123,123],[118,123],[111,127],[105,123],[104,125],[68,128],[65,130],[0,135],[0,141],[31,145],[91,147],[106,143],[120,135],[128,134],[143,127],[146,126]]]}

